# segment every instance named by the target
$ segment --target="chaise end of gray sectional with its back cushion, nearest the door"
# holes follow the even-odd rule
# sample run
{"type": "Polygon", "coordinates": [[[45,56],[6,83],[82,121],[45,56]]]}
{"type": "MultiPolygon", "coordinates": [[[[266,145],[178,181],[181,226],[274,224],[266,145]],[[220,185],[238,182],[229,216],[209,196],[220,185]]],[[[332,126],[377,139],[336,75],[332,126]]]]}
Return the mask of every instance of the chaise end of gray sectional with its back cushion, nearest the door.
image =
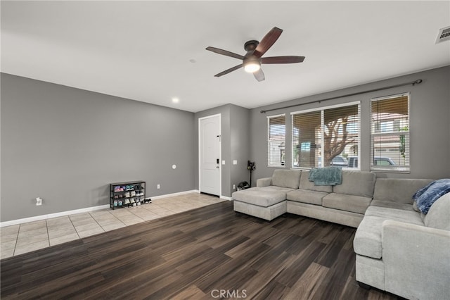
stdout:
{"type": "Polygon", "coordinates": [[[233,192],[233,209],[264,220],[286,212],[286,194],[298,189],[300,170],[274,170],[270,178],[257,180],[257,187],[233,192]]]}

